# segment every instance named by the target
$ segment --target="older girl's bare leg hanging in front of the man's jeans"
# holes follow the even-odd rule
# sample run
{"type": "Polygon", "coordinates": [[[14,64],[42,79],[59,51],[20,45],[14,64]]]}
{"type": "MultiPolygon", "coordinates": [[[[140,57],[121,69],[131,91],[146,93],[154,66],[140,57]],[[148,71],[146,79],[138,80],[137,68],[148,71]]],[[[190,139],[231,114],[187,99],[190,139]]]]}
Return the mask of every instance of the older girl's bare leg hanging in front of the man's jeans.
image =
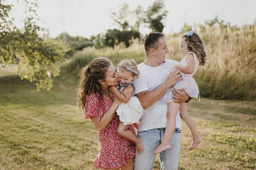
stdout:
{"type": "Polygon", "coordinates": [[[171,136],[175,131],[176,116],[179,108],[180,108],[180,104],[177,104],[174,102],[171,102],[168,104],[167,126],[165,127],[164,138],[162,138],[162,143],[158,147],[156,147],[156,149],[153,151],[154,154],[158,154],[161,151],[171,148],[170,141],[171,141],[171,136]]]}

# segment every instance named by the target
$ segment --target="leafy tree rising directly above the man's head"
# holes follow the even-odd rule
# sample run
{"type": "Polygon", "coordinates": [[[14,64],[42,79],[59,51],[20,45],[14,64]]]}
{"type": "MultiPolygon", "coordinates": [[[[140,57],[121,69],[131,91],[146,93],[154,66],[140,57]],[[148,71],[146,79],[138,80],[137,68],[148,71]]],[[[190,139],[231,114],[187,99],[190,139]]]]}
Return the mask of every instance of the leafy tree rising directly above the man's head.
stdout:
{"type": "Polygon", "coordinates": [[[152,6],[145,12],[144,22],[149,25],[152,32],[162,32],[164,24],[162,23],[167,16],[168,11],[164,10],[164,2],[156,0],[152,6]]]}

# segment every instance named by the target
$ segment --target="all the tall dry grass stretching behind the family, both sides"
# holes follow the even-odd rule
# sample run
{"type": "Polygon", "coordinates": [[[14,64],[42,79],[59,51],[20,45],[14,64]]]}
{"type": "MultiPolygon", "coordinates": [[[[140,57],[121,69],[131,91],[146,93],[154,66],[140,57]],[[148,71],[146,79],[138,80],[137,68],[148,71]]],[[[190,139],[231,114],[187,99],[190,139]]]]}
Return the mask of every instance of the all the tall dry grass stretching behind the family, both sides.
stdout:
{"type": "MultiPolygon", "coordinates": [[[[242,28],[204,27],[196,31],[204,41],[207,60],[195,73],[202,97],[211,99],[256,100],[256,21],[242,28]]],[[[182,33],[166,36],[169,53],[167,58],[181,60],[180,37],[182,33]]],[[[129,48],[122,45],[115,49],[89,47],[74,55],[70,71],[88,64],[92,58],[104,56],[114,64],[134,58],[137,63],[145,60],[142,42],[129,48]]]]}

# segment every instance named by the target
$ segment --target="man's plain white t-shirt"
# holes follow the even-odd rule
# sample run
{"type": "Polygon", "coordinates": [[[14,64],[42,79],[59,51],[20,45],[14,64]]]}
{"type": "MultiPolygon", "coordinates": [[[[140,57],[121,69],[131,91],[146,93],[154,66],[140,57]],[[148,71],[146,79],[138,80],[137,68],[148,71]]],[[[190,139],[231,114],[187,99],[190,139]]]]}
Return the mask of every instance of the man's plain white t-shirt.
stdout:
{"type": "MultiPolygon", "coordinates": [[[[166,60],[165,63],[160,66],[147,66],[144,63],[138,64],[138,70],[140,75],[136,81],[134,81],[135,94],[145,90],[153,90],[167,79],[170,70],[178,64],[175,60],[166,60]]],[[[155,104],[149,106],[149,108],[143,111],[140,118],[140,125],[138,132],[144,130],[151,130],[155,128],[166,127],[167,125],[167,104],[160,104],[159,100],[155,104]]],[[[182,121],[180,119],[180,111],[176,117],[176,127],[181,129],[182,121]]]]}

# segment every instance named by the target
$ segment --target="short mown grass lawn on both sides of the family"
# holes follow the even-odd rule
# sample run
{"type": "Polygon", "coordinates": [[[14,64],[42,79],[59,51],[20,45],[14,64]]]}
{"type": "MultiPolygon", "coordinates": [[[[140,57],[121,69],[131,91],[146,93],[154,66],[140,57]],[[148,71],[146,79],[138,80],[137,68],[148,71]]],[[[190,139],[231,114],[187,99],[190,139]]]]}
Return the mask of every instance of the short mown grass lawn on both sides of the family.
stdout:
{"type": "MultiPolygon", "coordinates": [[[[76,106],[78,78],[54,80],[50,92],[12,75],[0,77],[0,169],[94,169],[97,132],[76,106]]],[[[180,170],[256,169],[256,102],[202,99],[189,114],[203,139],[187,151],[183,123],[180,170]]],[[[160,169],[159,156],[153,169],[160,169]]]]}

